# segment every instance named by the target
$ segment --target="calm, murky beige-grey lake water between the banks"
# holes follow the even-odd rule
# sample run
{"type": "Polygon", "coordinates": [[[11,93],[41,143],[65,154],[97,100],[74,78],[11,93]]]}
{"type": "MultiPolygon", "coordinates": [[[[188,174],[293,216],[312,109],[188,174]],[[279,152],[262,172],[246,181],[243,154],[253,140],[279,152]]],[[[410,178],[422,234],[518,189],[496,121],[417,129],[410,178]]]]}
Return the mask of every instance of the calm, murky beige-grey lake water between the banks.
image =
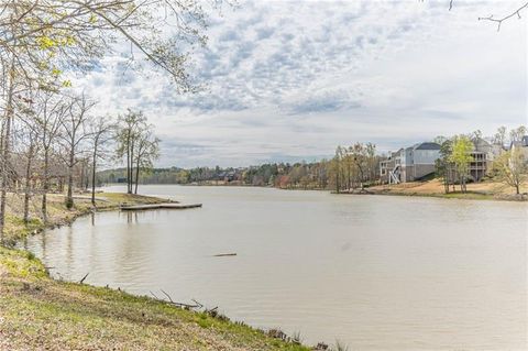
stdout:
{"type": "MultiPolygon", "coordinates": [[[[107,188],[108,191],[124,187],[107,188]]],[[[161,288],[350,350],[526,350],[526,204],[143,186],[190,210],[101,212],[24,244],[52,272],[161,288]],[[215,257],[219,253],[237,256],[215,257]]]]}

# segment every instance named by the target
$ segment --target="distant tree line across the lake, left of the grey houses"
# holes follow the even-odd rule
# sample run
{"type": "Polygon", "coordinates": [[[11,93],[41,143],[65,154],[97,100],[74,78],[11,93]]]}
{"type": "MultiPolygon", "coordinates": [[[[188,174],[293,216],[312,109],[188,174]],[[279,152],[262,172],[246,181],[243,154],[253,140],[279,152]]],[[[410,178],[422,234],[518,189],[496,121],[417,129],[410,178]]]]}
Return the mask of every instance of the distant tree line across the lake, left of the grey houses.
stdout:
{"type": "MultiPolygon", "coordinates": [[[[378,179],[380,160],[372,143],[338,146],[336,157],[319,162],[266,163],[250,167],[153,168],[144,184],[224,184],[273,186],[278,188],[336,189],[342,191],[378,179]]],[[[128,169],[107,169],[98,174],[100,184],[125,183],[128,169]]]]}

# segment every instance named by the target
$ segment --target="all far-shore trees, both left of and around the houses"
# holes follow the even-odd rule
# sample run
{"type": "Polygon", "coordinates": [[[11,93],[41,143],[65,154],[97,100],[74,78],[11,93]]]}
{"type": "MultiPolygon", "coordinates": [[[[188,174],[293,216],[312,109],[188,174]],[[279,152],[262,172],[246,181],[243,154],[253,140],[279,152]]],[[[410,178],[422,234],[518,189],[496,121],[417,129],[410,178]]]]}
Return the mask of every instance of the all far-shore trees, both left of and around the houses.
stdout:
{"type": "MultiPolygon", "coordinates": [[[[484,138],[475,131],[451,138],[437,136],[432,140],[440,145],[440,156],[436,161],[436,176],[444,186],[446,193],[468,190],[472,182],[470,171],[475,160],[475,143],[490,147],[491,154],[497,154],[493,167],[486,166],[487,178],[512,186],[518,194],[527,175],[527,157],[521,147],[510,147],[519,143],[527,130],[524,125],[512,129],[497,129],[493,136],[484,138]]],[[[525,153],[528,149],[524,149],[525,153]]],[[[486,157],[487,157],[486,156],[486,157]]],[[[380,162],[386,156],[376,152],[373,143],[354,143],[338,146],[334,156],[318,162],[266,163],[249,167],[195,167],[195,168],[152,168],[142,177],[140,184],[206,184],[206,185],[246,185],[272,186],[286,189],[329,189],[346,193],[381,184],[380,162]]],[[[99,184],[125,183],[127,168],[113,168],[98,173],[99,184]]]]}

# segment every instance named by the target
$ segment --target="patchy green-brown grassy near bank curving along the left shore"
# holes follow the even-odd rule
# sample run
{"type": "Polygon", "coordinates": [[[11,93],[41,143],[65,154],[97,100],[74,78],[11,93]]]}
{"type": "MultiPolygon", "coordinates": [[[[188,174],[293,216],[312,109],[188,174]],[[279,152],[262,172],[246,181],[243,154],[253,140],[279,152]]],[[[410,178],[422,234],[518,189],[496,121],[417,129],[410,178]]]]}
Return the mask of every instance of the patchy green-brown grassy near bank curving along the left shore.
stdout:
{"type": "MultiPolygon", "coordinates": [[[[13,199],[16,200],[16,199],[13,199]]],[[[122,202],[162,199],[103,194],[97,205],[116,209],[122,202]]],[[[51,223],[66,224],[91,211],[89,199],[66,210],[52,196],[51,223]]],[[[10,241],[42,230],[42,221],[24,224],[15,204],[8,220],[10,241]]],[[[36,204],[35,204],[36,205],[36,204]]],[[[32,208],[35,212],[35,207],[32,208]]],[[[215,312],[198,312],[150,297],[52,279],[31,253],[0,246],[0,350],[309,350],[272,338],[215,312]]]]}

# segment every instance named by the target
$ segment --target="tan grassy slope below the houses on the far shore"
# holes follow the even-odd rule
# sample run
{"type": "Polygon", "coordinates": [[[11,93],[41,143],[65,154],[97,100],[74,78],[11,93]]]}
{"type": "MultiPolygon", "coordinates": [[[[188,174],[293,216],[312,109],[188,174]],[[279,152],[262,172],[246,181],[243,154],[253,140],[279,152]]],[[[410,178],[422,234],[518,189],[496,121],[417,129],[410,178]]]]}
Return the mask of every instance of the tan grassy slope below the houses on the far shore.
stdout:
{"type": "Polygon", "coordinates": [[[524,184],[521,187],[521,193],[525,193],[524,195],[515,195],[514,188],[498,182],[486,180],[468,184],[466,193],[461,193],[460,187],[457,186],[457,191],[452,191],[451,189],[451,193],[446,194],[443,184],[439,179],[430,179],[425,182],[373,186],[367,188],[364,194],[425,196],[448,199],[526,201],[528,200],[526,191],[528,191],[528,184],[524,184]]]}

